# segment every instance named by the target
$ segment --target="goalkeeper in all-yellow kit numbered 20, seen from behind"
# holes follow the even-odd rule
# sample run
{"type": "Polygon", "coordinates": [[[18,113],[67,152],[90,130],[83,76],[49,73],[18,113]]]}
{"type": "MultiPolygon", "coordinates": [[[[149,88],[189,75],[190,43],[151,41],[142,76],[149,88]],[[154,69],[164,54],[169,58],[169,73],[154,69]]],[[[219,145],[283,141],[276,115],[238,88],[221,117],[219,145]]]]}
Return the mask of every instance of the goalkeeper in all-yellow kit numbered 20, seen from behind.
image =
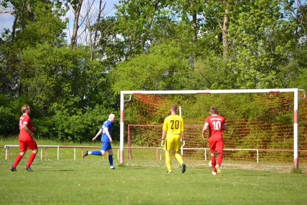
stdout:
{"type": "Polygon", "coordinates": [[[162,142],[161,146],[164,146],[165,150],[165,161],[167,166],[167,174],[172,174],[170,165],[170,151],[174,152],[174,156],[177,158],[181,165],[181,172],[185,173],[186,165],[183,162],[181,155],[178,154],[181,145],[181,137],[183,141],[182,147],[185,145],[184,140],[184,123],[183,118],[176,114],[177,106],[172,105],[170,108],[171,115],[164,119],[163,132],[162,132],[162,142]],[[165,138],[166,135],[166,138],[165,138]],[[164,143],[165,139],[165,143],[164,143]]]}

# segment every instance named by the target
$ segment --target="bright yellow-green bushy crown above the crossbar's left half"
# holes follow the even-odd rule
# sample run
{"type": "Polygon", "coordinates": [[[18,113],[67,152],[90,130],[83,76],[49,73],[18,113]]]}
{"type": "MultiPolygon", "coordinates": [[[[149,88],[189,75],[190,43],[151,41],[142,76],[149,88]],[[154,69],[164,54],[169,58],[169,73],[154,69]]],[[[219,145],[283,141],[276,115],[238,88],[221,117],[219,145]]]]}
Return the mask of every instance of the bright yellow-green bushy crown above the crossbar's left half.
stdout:
{"type": "Polygon", "coordinates": [[[115,93],[121,90],[189,89],[190,66],[176,42],[164,42],[148,54],[129,58],[111,71],[115,93]]]}

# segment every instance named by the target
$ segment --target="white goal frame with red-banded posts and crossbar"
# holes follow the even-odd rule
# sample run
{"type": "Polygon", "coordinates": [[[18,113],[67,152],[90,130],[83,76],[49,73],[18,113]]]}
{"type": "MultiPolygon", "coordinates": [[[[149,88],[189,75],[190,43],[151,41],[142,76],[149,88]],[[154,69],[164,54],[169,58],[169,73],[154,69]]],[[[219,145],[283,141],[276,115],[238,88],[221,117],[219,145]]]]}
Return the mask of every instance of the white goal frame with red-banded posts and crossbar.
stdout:
{"type": "Polygon", "coordinates": [[[131,94],[225,94],[225,93],[286,93],[294,94],[294,129],[293,129],[293,157],[294,168],[298,170],[298,100],[305,99],[305,91],[298,88],[290,89],[239,89],[239,90],[169,90],[169,91],[121,91],[120,92],[120,164],[124,163],[124,103],[130,101],[124,95],[131,94]],[[299,98],[299,92],[303,92],[303,97],[299,98]]]}

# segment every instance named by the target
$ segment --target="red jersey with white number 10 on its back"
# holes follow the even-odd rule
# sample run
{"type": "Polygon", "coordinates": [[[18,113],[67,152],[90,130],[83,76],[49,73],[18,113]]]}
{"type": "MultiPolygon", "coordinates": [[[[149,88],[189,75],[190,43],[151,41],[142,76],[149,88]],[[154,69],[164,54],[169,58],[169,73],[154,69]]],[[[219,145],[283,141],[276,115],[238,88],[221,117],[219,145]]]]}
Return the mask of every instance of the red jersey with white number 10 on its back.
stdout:
{"type": "Polygon", "coordinates": [[[225,118],[221,115],[207,117],[205,124],[209,125],[209,141],[223,140],[223,125],[226,124],[225,118]]]}

